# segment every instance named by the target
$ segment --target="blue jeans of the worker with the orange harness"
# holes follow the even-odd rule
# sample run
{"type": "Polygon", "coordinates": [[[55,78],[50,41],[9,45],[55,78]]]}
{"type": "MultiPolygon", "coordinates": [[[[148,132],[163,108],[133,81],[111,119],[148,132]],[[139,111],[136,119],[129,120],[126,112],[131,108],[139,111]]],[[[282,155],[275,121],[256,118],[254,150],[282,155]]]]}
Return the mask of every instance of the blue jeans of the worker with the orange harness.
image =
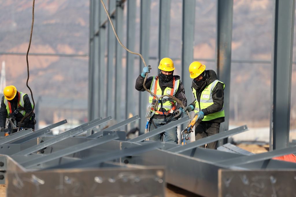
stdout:
{"type": "MultiPolygon", "coordinates": [[[[169,118],[160,119],[160,118],[152,118],[157,128],[165,125],[169,118]]],[[[172,118],[170,122],[176,121],[176,118],[172,118]]],[[[155,130],[155,127],[152,123],[149,123],[149,131],[155,130]]],[[[149,138],[151,141],[161,141],[161,138],[164,135],[165,142],[177,143],[178,144],[178,136],[177,136],[177,127],[171,128],[169,130],[164,131],[163,133],[157,134],[149,138]]]]}

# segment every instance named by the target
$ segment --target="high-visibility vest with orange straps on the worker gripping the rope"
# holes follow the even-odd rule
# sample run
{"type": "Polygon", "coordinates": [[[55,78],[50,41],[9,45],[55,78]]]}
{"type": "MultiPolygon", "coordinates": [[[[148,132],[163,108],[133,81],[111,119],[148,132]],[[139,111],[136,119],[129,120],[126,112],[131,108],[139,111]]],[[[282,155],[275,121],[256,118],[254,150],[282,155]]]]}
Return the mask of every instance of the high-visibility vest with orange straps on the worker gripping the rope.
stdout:
{"type": "MultiPolygon", "coordinates": [[[[154,76],[151,83],[150,91],[153,92],[157,96],[157,98],[163,95],[176,96],[179,83],[180,83],[180,80],[179,79],[175,80],[175,77],[173,77],[173,88],[166,87],[165,90],[162,91],[159,86],[158,76],[154,76]]],[[[155,102],[156,102],[156,97],[152,94],[149,94],[149,104],[154,105],[155,102]]],[[[170,113],[173,113],[174,110],[176,109],[176,106],[175,106],[176,101],[174,101],[168,96],[164,96],[158,102],[159,102],[159,105],[158,105],[158,109],[155,110],[155,114],[168,115],[170,113]],[[160,108],[165,109],[166,112],[160,112],[159,111],[160,108]]],[[[153,107],[151,108],[151,111],[154,111],[153,107]]]]}

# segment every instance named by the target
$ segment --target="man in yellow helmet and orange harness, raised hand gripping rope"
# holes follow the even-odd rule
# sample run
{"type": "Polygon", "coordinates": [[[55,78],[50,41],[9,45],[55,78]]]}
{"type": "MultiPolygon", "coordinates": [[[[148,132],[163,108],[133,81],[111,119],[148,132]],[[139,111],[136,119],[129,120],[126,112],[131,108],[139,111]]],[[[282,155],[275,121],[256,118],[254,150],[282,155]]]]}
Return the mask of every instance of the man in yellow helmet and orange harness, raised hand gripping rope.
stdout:
{"type": "MultiPolygon", "coordinates": [[[[143,72],[136,80],[136,90],[145,91],[143,87],[144,78],[150,72],[151,66],[143,68],[143,72]]],[[[181,83],[180,76],[173,75],[175,67],[170,58],[163,58],[158,66],[159,74],[157,76],[148,77],[145,87],[153,92],[157,98],[163,95],[172,95],[179,99],[184,106],[187,105],[185,90],[181,83]]],[[[155,111],[153,106],[157,100],[152,94],[149,95],[149,113],[154,113],[149,119],[149,131],[161,127],[169,122],[176,121],[182,115],[181,104],[176,103],[173,99],[165,96],[159,100],[158,109],[155,111]],[[151,126],[152,125],[152,126],[151,126]]],[[[161,141],[178,143],[177,127],[164,131],[159,135],[149,138],[151,141],[161,141]],[[163,138],[164,135],[164,138],[163,138]]]]}

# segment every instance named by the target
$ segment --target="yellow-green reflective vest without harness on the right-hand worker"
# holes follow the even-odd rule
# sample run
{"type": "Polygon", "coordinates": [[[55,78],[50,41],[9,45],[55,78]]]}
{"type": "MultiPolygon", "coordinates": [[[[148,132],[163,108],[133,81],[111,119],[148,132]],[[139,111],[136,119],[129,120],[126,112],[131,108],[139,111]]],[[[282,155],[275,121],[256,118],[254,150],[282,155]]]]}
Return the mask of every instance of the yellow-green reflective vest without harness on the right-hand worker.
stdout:
{"type": "MultiPolygon", "coordinates": [[[[202,91],[202,94],[200,96],[200,103],[197,100],[196,90],[194,88],[192,88],[192,90],[193,90],[192,92],[195,97],[195,108],[194,108],[195,113],[214,104],[213,99],[212,99],[212,92],[218,82],[223,84],[223,89],[225,88],[225,84],[223,82],[221,82],[219,80],[213,81],[211,84],[209,84],[207,87],[205,87],[205,89],[202,91]]],[[[224,114],[224,105],[223,105],[222,109],[219,112],[215,112],[215,113],[206,115],[204,117],[204,119],[202,119],[202,121],[214,120],[216,118],[224,117],[224,116],[225,116],[225,114],[224,114]]]]}

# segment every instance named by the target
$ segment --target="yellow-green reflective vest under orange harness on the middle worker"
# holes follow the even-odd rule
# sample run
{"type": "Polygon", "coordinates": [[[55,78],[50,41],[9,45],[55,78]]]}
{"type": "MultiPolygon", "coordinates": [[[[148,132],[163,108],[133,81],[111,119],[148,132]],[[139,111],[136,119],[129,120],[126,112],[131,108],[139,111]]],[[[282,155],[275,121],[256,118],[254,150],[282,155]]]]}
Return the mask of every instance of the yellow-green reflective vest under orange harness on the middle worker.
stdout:
{"type": "MultiPolygon", "coordinates": [[[[152,83],[151,83],[151,86],[150,86],[150,91],[153,92],[153,93],[155,93],[156,77],[158,77],[158,76],[153,76],[153,80],[152,80],[152,83]]],[[[174,89],[173,89],[173,93],[171,93],[172,88],[169,88],[169,87],[166,87],[165,90],[162,93],[162,90],[161,90],[161,88],[159,86],[159,80],[157,80],[157,89],[156,89],[156,93],[155,93],[157,98],[159,98],[160,96],[163,96],[163,95],[176,96],[176,92],[178,90],[180,80],[179,79],[175,80],[175,77],[174,77],[173,82],[175,84],[174,89]]],[[[152,105],[152,100],[153,99],[156,99],[156,98],[152,94],[149,94],[149,104],[150,105],[152,105]]],[[[174,101],[173,99],[171,99],[168,96],[164,96],[163,98],[161,98],[160,102],[162,102],[162,100],[164,100],[165,102],[163,103],[162,107],[161,107],[161,104],[159,104],[157,110],[159,110],[160,108],[164,108],[166,111],[169,111],[170,109],[175,110],[176,101],[174,101]],[[174,107],[174,109],[173,109],[173,107],[174,107]]],[[[154,102],[153,102],[153,104],[154,104],[154,102]]],[[[165,113],[155,112],[155,114],[165,114],[165,113]]],[[[165,115],[168,115],[168,114],[165,114],[165,115]]]]}

